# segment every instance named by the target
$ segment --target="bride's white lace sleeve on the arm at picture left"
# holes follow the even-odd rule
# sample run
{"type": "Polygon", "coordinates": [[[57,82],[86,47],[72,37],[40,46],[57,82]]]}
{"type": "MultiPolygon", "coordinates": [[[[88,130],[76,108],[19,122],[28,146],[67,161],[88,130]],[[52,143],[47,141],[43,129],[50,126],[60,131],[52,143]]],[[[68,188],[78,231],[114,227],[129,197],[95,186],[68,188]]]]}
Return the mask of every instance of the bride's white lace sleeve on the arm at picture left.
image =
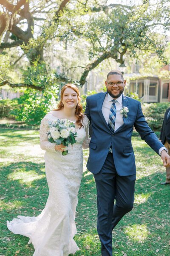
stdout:
{"type": "Polygon", "coordinates": [[[55,143],[51,143],[47,138],[48,118],[44,117],[40,124],[40,147],[42,150],[55,152],[55,143]]]}

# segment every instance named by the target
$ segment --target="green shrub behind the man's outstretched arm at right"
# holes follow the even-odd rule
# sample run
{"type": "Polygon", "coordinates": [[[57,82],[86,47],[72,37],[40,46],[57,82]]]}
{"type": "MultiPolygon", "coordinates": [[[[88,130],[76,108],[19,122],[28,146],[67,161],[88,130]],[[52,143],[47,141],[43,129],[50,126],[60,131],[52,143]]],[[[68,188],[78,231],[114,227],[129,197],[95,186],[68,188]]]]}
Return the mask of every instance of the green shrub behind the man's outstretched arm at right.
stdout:
{"type": "Polygon", "coordinates": [[[142,110],[144,116],[153,130],[161,130],[166,109],[170,107],[170,103],[144,103],[142,110]]]}

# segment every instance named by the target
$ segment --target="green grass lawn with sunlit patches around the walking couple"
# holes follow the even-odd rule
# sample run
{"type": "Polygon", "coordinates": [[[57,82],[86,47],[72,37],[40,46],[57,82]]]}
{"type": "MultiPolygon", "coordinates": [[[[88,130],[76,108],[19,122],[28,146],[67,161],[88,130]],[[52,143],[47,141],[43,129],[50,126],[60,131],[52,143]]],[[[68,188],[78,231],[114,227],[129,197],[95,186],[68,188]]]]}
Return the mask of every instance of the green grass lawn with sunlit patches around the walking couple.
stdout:
{"type": "MultiPolygon", "coordinates": [[[[115,256],[170,255],[170,186],[162,186],[165,168],[161,158],[139,136],[133,137],[137,180],[134,209],[113,231],[115,256]]],[[[0,256],[32,256],[28,238],[8,231],[6,221],[17,215],[37,216],[48,197],[44,152],[34,130],[0,129],[0,256]]],[[[77,207],[80,248],[75,256],[100,256],[96,232],[96,188],[85,168],[77,207]]]]}

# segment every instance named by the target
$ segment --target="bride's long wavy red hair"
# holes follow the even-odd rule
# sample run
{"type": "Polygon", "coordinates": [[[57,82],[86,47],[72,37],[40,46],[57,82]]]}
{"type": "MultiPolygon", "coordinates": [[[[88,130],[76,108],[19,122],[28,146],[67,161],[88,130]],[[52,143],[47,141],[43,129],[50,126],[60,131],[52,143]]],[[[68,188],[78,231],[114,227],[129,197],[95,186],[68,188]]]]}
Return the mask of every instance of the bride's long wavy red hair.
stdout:
{"type": "Polygon", "coordinates": [[[76,106],[76,109],[75,109],[75,115],[77,117],[77,125],[79,128],[82,127],[82,119],[83,119],[83,115],[82,115],[82,105],[80,104],[80,101],[81,101],[81,98],[80,98],[80,93],[79,93],[79,89],[77,88],[77,86],[75,86],[73,83],[66,83],[63,87],[62,87],[62,90],[61,90],[61,99],[59,101],[59,104],[57,105],[58,106],[58,109],[53,109],[53,110],[61,110],[64,108],[64,105],[62,103],[62,98],[63,98],[63,94],[64,94],[64,91],[65,89],[67,88],[71,88],[73,89],[76,93],[77,93],[77,98],[78,98],[78,104],[76,106]]]}

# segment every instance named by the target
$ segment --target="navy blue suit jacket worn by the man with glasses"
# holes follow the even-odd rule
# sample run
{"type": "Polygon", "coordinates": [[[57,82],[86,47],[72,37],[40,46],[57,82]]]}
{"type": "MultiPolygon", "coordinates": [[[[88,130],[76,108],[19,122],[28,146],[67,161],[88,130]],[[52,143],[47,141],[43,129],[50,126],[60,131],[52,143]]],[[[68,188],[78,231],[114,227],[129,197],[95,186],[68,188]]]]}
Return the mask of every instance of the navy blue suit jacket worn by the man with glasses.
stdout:
{"type": "Polygon", "coordinates": [[[157,153],[164,145],[150,129],[142,113],[141,104],[132,98],[122,95],[123,107],[128,107],[124,124],[114,133],[108,127],[102,114],[102,104],[107,92],[100,92],[87,97],[85,115],[91,121],[92,137],[89,144],[90,154],[87,168],[91,173],[99,173],[112,145],[113,159],[116,171],[121,176],[136,173],[135,156],[131,143],[133,126],[139,132],[142,140],[157,153]]]}

